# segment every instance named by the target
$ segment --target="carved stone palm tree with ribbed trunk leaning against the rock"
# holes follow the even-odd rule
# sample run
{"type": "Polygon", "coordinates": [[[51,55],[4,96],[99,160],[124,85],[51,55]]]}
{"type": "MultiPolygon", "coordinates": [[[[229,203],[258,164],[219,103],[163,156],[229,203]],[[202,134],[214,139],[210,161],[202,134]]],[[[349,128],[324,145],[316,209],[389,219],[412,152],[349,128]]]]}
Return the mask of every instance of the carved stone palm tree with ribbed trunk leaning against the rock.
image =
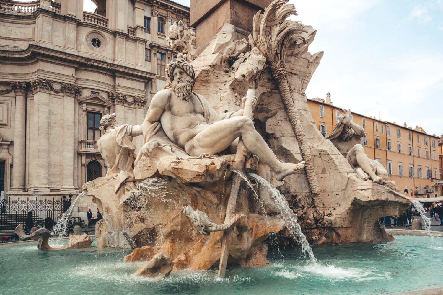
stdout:
{"type": "Polygon", "coordinates": [[[275,0],[264,10],[258,11],[253,18],[253,32],[249,35],[249,42],[253,47],[257,47],[266,57],[272,76],[277,81],[280,96],[283,100],[289,121],[300,146],[303,160],[306,161],[305,169],[309,187],[315,207],[322,203],[320,187],[314,171],[311,151],[307,144],[299,115],[294,106],[294,100],[289,90],[286,77],[286,52],[288,46],[298,46],[306,43],[303,37],[307,33],[302,23],[288,20],[289,15],[297,15],[293,4],[288,4],[288,0],[275,0]]]}

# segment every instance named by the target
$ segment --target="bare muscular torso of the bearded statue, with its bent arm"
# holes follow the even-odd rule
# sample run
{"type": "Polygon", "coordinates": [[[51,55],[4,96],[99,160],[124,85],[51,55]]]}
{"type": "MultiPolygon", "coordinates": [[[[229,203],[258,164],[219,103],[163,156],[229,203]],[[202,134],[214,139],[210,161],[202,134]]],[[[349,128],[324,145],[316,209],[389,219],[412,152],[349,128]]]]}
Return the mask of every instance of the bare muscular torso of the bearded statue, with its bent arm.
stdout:
{"type": "Polygon", "coordinates": [[[167,137],[184,149],[195,135],[209,126],[198,98],[191,94],[189,101],[181,100],[171,88],[157,92],[152,98],[147,118],[154,123],[159,120],[157,116],[167,137]]]}

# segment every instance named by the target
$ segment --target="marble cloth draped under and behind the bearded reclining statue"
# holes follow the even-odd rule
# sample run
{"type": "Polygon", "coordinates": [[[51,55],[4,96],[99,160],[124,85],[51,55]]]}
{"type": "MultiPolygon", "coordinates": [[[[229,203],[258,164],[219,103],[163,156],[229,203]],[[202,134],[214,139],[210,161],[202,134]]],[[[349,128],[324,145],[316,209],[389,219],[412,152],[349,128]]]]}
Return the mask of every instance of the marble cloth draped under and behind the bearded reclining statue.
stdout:
{"type": "MultiPolygon", "coordinates": [[[[210,103],[200,94],[197,94],[195,92],[192,92],[195,96],[197,96],[198,101],[201,103],[203,108],[203,117],[206,119],[206,123],[212,124],[215,122],[218,122],[220,120],[229,119],[233,111],[223,113],[222,115],[218,115],[216,111],[212,108],[210,103]]],[[[175,142],[172,142],[171,139],[167,137],[165,132],[163,131],[162,125],[160,121],[156,121],[153,123],[149,128],[148,131],[143,136],[143,143],[147,142],[156,142],[157,148],[163,150],[164,153],[170,156],[175,156],[178,159],[198,159],[198,158],[210,158],[210,157],[216,157],[214,155],[210,155],[207,153],[202,153],[201,155],[197,157],[190,156],[185,149],[183,149],[181,146],[176,144],[175,142]]],[[[141,158],[141,153],[137,155],[136,163],[141,158]]]]}

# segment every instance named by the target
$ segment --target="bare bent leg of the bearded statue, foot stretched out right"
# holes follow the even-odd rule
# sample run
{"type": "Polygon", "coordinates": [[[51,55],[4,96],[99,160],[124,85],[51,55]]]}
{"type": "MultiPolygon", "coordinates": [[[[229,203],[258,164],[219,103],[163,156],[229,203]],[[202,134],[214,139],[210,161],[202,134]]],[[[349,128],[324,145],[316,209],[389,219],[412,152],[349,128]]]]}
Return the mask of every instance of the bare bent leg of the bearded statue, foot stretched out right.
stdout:
{"type": "Polygon", "coordinates": [[[236,116],[209,125],[191,139],[185,149],[191,156],[198,156],[202,153],[215,155],[226,149],[239,136],[243,139],[246,148],[275,172],[277,180],[283,180],[284,177],[304,167],[303,163],[280,162],[255,130],[252,120],[245,116],[236,116]]]}

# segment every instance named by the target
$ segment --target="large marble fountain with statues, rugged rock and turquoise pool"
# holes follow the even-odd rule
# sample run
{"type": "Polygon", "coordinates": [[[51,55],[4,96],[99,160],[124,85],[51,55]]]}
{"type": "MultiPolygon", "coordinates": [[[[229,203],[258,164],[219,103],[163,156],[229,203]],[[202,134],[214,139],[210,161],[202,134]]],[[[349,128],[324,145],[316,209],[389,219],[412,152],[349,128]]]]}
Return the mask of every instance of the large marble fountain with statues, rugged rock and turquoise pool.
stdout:
{"type": "MultiPolygon", "coordinates": [[[[287,20],[296,15],[287,2],[257,12],[249,40],[236,40],[235,27],[225,23],[198,56],[194,35],[183,23],[171,26],[169,45],[180,54],[144,123],[118,126],[115,114],[101,119],[97,147],[109,169],[85,183],[82,195],[93,196],[103,220],[96,247],[66,251],[63,262],[53,258],[57,280],[72,280],[66,288],[80,291],[75,283],[85,274],[100,283],[100,294],[115,285],[134,293],[214,291],[203,282],[226,294],[293,293],[291,281],[306,294],[438,285],[414,271],[441,264],[424,258],[433,251],[427,241],[401,234],[394,241],[377,222],[414,200],[377,163],[355,162],[358,146],[343,157],[338,137],[325,139],[315,126],[304,92],[323,52],[308,52],[316,31],[287,20]],[[142,135],[136,152],[132,140],[142,135]],[[285,241],[288,232],[299,248],[268,253],[268,238],[285,241]],[[383,257],[413,265],[396,273],[383,257]]],[[[54,231],[64,232],[66,222],[54,231]]]]}

